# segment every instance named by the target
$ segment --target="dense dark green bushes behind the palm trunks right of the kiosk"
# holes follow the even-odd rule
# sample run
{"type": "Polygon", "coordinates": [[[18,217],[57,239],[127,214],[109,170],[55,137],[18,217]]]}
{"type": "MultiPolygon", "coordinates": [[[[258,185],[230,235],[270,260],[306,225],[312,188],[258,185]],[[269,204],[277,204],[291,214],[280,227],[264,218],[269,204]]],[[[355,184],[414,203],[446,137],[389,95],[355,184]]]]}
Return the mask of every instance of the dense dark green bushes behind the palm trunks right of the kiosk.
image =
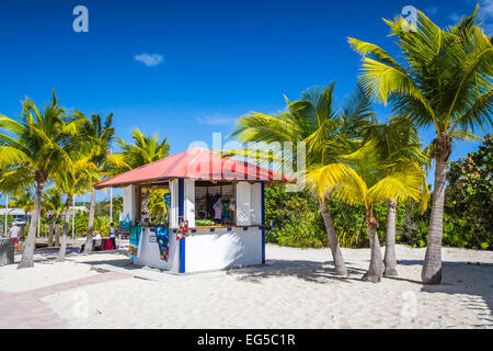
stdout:
{"type": "MultiPolygon", "coordinates": [[[[493,135],[484,136],[477,152],[450,163],[447,174],[443,245],[493,250],[493,135]]],[[[432,200],[424,213],[417,204],[398,204],[398,244],[426,247],[432,200]]],[[[363,208],[329,202],[342,247],[368,247],[363,208]]],[[[376,204],[374,215],[385,245],[387,204],[376,204]]],[[[293,247],[326,247],[325,226],[312,194],[286,193],[284,186],[265,189],[266,241],[293,247]],[[271,219],[273,229],[271,230],[271,219]]]]}

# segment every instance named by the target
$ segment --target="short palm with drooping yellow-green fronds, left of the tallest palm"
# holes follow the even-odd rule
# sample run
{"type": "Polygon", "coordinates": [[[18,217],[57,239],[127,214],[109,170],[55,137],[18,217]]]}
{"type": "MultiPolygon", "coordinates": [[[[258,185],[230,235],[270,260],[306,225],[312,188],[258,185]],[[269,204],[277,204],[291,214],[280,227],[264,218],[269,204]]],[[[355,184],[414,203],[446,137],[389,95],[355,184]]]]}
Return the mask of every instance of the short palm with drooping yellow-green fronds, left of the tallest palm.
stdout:
{"type": "Polygon", "coordinates": [[[385,268],[377,235],[378,220],[374,216],[375,203],[387,202],[390,199],[417,201],[423,179],[415,162],[401,160],[398,163],[387,163],[387,159],[379,154],[375,140],[353,141],[347,144],[347,147],[348,151],[352,148],[353,151],[340,155],[339,159],[342,163],[351,166],[354,172],[347,172],[347,177],[341,181],[334,178],[330,168],[313,168],[309,170],[307,178],[320,200],[331,194],[343,203],[364,206],[371,256],[363,280],[377,283],[385,268]]]}

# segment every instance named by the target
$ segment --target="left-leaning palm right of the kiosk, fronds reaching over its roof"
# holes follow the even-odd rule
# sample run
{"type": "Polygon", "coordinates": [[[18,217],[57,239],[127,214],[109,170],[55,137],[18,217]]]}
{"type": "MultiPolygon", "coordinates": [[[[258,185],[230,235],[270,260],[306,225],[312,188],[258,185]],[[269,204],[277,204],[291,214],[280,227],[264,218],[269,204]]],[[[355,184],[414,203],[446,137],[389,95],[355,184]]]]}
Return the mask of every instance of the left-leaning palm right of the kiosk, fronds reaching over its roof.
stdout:
{"type": "MultiPolygon", "coordinates": [[[[333,81],[321,89],[309,89],[301,95],[301,99],[293,103],[286,99],[287,109],[279,114],[266,115],[253,112],[242,116],[230,136],[237,137],[242,143],[255,141],[274,145],[273,152],[282,155],[284,159],[295,159],[296,146],[299,141],[305,143],[307,169],[324,169],[325,174],[330,174],[334,182],[341,181],[353,173],[353,170],[346,165],[337,162],[336,157],[344,149],[345,143],[356,138],[369,123],[372,113],[368,99],[359,88],[346,99],[339,111],[334,109],[334,86],[333,81]],[[291,143],[293,155],[275,147],[276,144],[280,146],[284,141],[291,143]]],[[[318,185],[324,186],[325,184],[317,184],[316,191],[318,185]]],[[[326,205],[328,199],[329,193],[323,197],[318,197],[320,212],[325,224],[335,271],[339,275],[347,275],[332,216],[326,205]]]]}

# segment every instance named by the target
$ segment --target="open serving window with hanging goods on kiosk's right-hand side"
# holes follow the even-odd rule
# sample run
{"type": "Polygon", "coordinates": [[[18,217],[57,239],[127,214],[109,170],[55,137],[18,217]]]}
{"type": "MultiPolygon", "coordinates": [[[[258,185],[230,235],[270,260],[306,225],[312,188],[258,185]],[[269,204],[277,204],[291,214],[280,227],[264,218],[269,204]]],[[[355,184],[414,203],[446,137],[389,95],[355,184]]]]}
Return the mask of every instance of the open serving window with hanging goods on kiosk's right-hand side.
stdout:
{"type": "Polygon", "coordinates": [[[196,226],[236,225],[236,206],[234,184],[195,182],[196,226]]]}

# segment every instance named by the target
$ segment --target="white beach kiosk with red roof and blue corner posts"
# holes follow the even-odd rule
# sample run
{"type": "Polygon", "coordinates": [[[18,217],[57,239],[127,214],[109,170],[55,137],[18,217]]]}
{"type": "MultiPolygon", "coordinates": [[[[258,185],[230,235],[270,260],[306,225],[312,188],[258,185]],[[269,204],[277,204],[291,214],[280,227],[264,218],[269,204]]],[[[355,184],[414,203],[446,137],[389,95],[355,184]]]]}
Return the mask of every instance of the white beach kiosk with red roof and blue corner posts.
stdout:
{"type": "Polygon", "coordinates": [[[94,186],[123,188],[123,217],[133,225],[134,264],[188,273],[265,263],[264,185],[271,182],[287,179],[259,165],[192,147],[94,186]],[[141,222],[145,189],[169,190],[165,226],[141,222]]]}

